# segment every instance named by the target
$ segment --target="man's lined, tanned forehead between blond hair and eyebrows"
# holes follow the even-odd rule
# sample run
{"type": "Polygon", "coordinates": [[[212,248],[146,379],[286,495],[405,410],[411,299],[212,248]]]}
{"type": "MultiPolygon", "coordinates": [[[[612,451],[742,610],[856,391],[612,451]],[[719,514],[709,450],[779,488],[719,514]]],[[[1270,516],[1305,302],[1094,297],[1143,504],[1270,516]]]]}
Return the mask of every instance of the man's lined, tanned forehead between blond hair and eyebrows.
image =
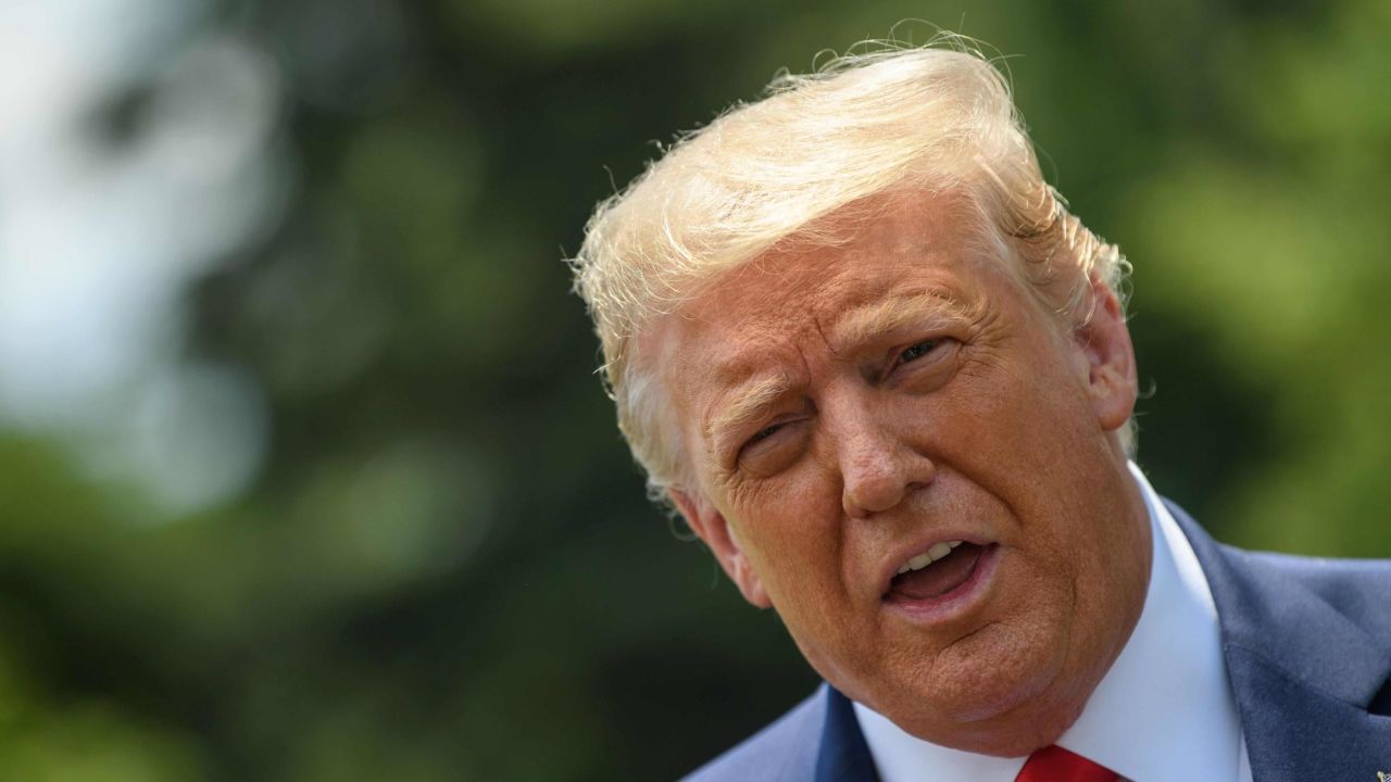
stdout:
{"type": "Polygon", "coordinates": [[[865,316],[882,320],[899,302],[974,309],[1010,287],[974,214],[950,195],[857,203],[814,225],[814,239],[793,237],[725,273],[657,324],[647,345],[664,369],[700,365],[701,380],[732,381],[755,373],[769,352],[828,340],[865,316]]]}

